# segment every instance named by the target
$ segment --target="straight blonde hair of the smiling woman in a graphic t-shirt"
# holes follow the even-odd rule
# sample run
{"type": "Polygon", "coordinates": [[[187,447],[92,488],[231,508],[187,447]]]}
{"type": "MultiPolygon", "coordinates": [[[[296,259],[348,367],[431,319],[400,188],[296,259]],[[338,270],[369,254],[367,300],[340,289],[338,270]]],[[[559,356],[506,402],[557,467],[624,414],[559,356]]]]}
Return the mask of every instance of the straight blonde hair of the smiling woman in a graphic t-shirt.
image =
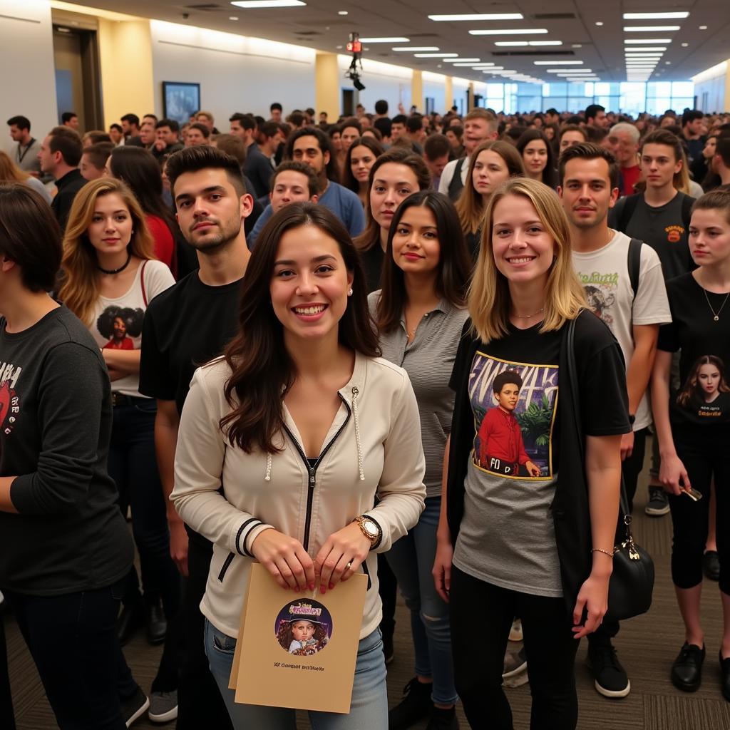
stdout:
{"type": "Polygon", "coordinates": [[[560,329],[575,319],[585,304],[583,287],[575,275],[570,253],[570,227],[556,194],[547,185],[526,177],[513,177],[496,189],[484,215],[479,258],[469,285],[468,307],[472,334],[483,342],[507,334],[510,317],[510,289],[507,277],[499,272],[492,251],[494,209],[507,196],[523,196],[537,211],[539,219],[555,242],[553,265],[545,285],[545,312],[540,332],[560,329]]]}

